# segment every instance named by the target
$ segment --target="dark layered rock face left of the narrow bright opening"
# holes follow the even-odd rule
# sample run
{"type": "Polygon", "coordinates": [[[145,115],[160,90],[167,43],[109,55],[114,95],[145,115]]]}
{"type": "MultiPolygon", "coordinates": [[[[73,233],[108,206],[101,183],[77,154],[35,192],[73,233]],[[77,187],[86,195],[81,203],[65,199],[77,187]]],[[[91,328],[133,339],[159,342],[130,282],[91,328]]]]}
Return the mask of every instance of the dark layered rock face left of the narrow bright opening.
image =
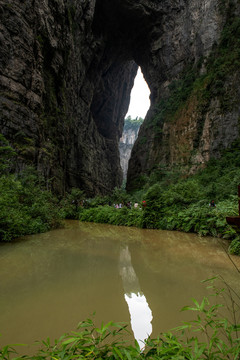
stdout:
{"type": "Polygon", "coordinates": [[[0,131],[54,190],[121,185],[118,143],[137,65],[95,1],[0,0],[0,131]],[[100,16],[100,14],[99,14],[100,16]]]}

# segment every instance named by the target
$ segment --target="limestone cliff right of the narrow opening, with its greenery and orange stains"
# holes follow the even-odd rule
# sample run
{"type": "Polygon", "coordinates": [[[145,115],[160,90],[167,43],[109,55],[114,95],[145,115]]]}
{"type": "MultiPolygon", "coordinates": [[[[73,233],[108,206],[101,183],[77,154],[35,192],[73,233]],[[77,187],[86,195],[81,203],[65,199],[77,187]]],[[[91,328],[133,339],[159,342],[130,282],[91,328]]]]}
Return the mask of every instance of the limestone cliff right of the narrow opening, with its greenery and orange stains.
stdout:
{"type": "Polygon", "coordinates": [[[239,139],[239,1],[174,3],[142,64],[152,106],[132,150],[128,190],[155,171],[195,172],[239,139]]]}

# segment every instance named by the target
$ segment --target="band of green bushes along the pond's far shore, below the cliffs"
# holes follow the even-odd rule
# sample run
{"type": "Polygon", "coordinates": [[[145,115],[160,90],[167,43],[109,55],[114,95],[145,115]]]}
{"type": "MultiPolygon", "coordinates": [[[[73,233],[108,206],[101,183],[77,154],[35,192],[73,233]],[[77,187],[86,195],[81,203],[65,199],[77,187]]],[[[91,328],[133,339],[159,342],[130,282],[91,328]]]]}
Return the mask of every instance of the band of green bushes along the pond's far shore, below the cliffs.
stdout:
{"type": "Polygon", "coordinates": [[[240,255],[239,236],[226,223],[226,216],[238,215],[240,141],[225,150],[220,159],[210,160],[205,169],[189,177],[174,176],[174,171],[159,168],[133,194],[114,189],[109,196],[86,199],[82,190],[72,189],[61,200],[46,190],[33,168],[11,174],[10,159],[15,153],[3,137],[0,143],[0,241],[48,231],[60,226],[61,219],[70,218],[224,237],[234,240],[230,252],[240,255]],[[212,199],[216,208],[209,207],[212,199]],[[142,206],[143,200],[146,207],[142,206]],[[114,208],[113,204],[119,203],[125,206],[114,208]]]}

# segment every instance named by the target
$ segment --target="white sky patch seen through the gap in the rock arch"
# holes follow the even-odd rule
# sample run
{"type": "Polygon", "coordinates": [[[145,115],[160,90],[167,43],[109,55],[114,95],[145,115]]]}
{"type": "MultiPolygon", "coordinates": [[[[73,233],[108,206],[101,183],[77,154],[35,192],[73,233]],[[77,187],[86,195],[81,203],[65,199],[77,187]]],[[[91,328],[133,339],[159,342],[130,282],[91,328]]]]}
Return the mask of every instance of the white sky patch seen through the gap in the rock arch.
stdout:
{"type": "Polygon", "coordinates": [[[149,95],[150,90],[139,67],[131,91],[130,105],[125,117],[130,115],[132,119],[135,119],[137,116],[144,119],[150,107],[149,95]]]}

